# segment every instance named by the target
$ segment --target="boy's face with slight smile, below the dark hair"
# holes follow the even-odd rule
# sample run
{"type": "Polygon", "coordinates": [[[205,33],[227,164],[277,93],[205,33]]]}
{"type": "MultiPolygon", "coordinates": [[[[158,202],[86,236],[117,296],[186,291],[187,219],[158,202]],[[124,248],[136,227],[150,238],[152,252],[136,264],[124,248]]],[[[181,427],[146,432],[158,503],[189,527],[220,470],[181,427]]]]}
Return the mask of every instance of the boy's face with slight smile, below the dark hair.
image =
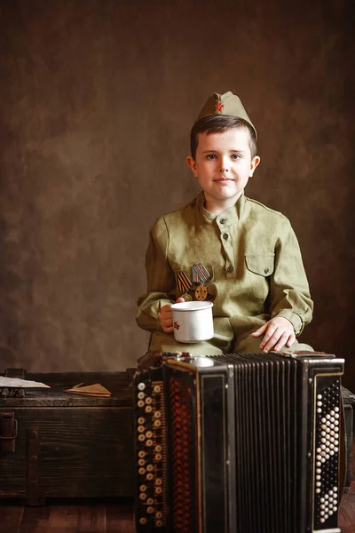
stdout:
{"type": "Polygon", "coordinates": [[[218,214],[232,207],[260,163],[257,155],[251,158],[248,140],[244,128],[199,133],[196,158],[186,161],[204,190],[208,211],[218,214]]]}

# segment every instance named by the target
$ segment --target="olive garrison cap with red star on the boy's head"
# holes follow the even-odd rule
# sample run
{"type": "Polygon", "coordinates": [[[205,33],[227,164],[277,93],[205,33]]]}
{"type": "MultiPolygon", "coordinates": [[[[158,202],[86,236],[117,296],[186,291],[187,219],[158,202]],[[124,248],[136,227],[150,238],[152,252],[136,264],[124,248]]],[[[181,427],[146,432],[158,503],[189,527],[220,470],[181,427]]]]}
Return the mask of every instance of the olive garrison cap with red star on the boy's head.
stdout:
{"type": "Polygon", "coordinates": [[[250,124],[256,134],[256,128],[249,119],[247,111],[244,109],[243,104],[241,103],[241,99],[236,94],[233,94],[232,91],[225,92],[224,94],[218,94],[217,92],[214,92],[202,107],[196,122],[201,120],[201,118],[213,115],[238,116],[238,118],[242,118],[248,124],[250,124]]]}

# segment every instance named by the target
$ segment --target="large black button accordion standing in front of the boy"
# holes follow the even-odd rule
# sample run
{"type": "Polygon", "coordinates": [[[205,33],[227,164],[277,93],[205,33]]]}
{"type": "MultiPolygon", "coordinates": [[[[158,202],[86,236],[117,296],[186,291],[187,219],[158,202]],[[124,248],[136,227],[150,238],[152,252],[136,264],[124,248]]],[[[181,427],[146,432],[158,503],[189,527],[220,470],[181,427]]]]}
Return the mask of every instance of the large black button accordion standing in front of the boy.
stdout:
{"type": "Polygon", "coordinates": [[[160,354],[135,376],[138,533],[338,532],[343,359],[160,354]]]}

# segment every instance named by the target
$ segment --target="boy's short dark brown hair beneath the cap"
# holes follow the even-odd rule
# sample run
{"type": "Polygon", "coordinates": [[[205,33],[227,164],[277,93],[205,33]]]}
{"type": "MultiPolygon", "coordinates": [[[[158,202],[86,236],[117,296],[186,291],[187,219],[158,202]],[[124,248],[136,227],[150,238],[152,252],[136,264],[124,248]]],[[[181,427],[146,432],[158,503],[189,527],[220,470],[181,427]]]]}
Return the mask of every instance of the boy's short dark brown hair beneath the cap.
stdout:
{"type": "Polygon", "coordinates": [[[239,116],[212,115],[205,116],[193,124],[190,138],[191,155],[196,159],[196,150],[199,146],[199,133],[223,133],[233,128],[244,128],[249,134],[249,148],[251,158],[256,156],[256,134],[250,124],[239,116]]]}

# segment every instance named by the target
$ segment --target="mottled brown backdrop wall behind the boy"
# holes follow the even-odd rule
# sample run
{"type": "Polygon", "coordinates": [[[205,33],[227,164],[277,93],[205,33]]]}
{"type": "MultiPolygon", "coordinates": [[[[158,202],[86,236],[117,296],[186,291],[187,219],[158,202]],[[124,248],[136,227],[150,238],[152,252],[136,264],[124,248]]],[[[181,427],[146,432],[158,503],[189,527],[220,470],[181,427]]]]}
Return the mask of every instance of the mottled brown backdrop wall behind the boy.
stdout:
{"type": "Polygon", "coordinates": [[[304,341],[355,389],[351,0],[0,0],[0,370],[117,370],[147,334],[148,229],[198,188],[188,132],[213,91],[259,132],[247,194],[291,219],[304,341]]]}

